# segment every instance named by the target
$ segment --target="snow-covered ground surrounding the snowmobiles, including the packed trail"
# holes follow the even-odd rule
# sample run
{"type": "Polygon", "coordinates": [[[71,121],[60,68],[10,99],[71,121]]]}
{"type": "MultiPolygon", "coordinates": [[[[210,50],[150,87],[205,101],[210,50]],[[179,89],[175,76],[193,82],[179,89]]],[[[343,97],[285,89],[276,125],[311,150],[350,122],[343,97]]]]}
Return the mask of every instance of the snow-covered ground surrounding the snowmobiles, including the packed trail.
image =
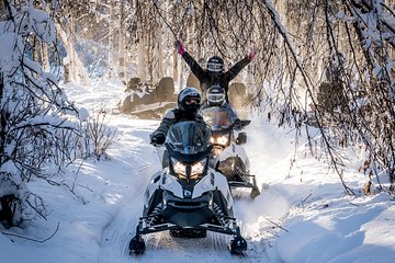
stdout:
{"type": "MultiPolygon", "coordinates": [[[[117,83],[65,89],[90,111],[114,107],[123,93],[117,83]]],[[[303,141],[295,148],[292,130],[279,129],[264,116],[250,118],[246,151],[262,194],[235,203],[248,242],[245,258],[230,255],[230,238],[224,235],[181,239],[167,232],[148,235],[145,253],[128,255],[145,186],[160,169],[148,142],[159,123],[110,114],[109,125],[119,136],[108,158],[75,163],[53,176],[68,187],[38,179],[30,184],[52,213],[26,229],[1,229],[0,262],[395,262],[392,197],[346,195],[338,175],[311,158],[303,141]]],[[[358,160],[353,165],[343,179],[359,194],[365,178],[358,173],[358,160]]]]}

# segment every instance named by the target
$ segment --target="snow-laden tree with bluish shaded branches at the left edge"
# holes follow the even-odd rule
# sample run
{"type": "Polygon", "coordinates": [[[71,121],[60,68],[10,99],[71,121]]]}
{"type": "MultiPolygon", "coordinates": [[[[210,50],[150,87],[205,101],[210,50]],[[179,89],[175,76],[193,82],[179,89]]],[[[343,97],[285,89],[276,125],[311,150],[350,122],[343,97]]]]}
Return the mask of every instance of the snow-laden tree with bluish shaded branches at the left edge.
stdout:
{"type": "MultiPolygon", "coordinates": [[[[2,219],[18,226],[34,215],[46,217],[43,199],[29,191],[33,176],[44,178],[43,165],[57,160],[64,133],[79,133],[78,112],[67,102],[56,76],[33,60],[32,43],[54,46],[55,25],[45,12],[4,1],[7,20],[0,23],[0,199],[2,219]],[[77,121],[77,118],[76,118],[77,121]]],[[[59,61],[55,59],[54,61],[59,61]]]]}

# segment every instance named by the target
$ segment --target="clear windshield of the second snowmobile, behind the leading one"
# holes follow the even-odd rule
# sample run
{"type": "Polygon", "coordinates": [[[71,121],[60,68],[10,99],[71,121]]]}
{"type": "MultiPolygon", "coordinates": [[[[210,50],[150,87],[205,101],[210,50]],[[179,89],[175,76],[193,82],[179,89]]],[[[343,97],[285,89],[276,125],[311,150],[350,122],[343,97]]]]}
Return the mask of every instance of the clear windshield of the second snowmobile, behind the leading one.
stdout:
{"type": "Polygon", "coordinates": [[[232,125],[236,121],[236,114],[232,111],[232,107],[206,107],[201,111],[201,115],[212,130],[232,128],[232,125]]]}

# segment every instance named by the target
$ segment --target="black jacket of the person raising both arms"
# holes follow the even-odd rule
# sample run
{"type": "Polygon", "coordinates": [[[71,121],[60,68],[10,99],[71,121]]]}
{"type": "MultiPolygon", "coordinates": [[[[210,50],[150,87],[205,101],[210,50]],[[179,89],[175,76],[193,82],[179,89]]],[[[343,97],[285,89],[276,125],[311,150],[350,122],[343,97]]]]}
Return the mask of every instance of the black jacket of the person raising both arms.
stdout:
{"type": "Polygon", "coordinates": [[[245,57],[234,66],[229,68],[226,72],[218,72],[218,75],[213,76],[212,72],[203,69],[196,60],[188,53],[184,52],[182,58],[191,68],[191,71],[196,76],[200,81],[201,90],[203,93],[203,101],[206,100],[206,92],[215,83],[218,83],[226,92],[226,102],[228,100],[228,90],[229,90],[229,82],[233,80],[249,62],[250,60],[245,57]]]}

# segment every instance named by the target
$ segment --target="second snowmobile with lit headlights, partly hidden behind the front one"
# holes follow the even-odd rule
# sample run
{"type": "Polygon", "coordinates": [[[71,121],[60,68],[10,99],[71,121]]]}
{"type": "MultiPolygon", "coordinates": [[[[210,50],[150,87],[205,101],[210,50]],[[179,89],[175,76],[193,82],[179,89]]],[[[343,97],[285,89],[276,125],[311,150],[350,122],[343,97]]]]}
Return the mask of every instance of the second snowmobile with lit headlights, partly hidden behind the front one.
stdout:
{"type": "Polygon", "coordinates": [[[226,176],[232,190],[251,188],[251,198],[260,195],[256,176],[249,174],[250,163],[241,147],[247,142],[247,135],[240,130],[249,125],[250,121],[237,118],[229,104],[203,106],[201,115],[212,130],[211,167],[226,176]]]}

